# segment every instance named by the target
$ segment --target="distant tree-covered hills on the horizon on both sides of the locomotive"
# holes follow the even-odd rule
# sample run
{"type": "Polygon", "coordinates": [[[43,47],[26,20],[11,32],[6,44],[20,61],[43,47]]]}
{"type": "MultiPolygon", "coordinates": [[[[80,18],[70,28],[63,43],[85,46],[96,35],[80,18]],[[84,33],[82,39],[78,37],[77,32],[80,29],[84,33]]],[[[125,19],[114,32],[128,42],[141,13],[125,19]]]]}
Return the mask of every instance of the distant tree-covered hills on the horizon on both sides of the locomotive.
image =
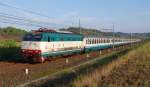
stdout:
{"type": "MultiPolygon", "coordinates": [[[[101,36],[101,37],[112,37],[113,32],[102,32],[97,29],[90,29],[90,28],[79,28],[79,27],[69,27],[69,28],[63,28],[59,29],[63,31],[70,31],[76,34],[83,34],[84,36],[101,36]]],[[[0,28],[0,40],[15,40],[15,41],[21,41],[22,37],[28,33],[27,31],[15,28],[15,27],[5,27],[0,28]]],[[[130,33],[123,33],[123,32],[115,32],[115,37],[121,37],[121,38],[131,38],[130,33]]],[[[141,39],[149,39],[150,33],[132,33],[132,38],[141,38],[141,39]]]]}

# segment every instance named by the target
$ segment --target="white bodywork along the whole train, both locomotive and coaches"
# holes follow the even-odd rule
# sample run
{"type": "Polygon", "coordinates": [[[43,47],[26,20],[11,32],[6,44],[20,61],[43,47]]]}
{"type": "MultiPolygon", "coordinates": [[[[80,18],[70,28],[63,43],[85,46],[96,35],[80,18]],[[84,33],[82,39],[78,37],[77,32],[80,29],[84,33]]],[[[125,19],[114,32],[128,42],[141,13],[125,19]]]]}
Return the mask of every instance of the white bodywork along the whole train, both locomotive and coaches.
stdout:
{"type": "Polygon", "coordinates": [[[105,45],[117,45],[117,44],[126,44],[131,42],[137,42],[140,40],[125,41],[127,39],[121,39],[121,42],[112,42],[112,38],[84,38],[83,41],[55,41],[55,42],[40,42],[40,41],[22,41],[21,49],[27,50],[41,50],[44,52],[57,52],[57,51],[67,51],[72,49],[83,49],[84,47],[94,47],[94,46],[105,46],[105,45]],[[87,39],[105,39],[110,40],[109,43],[86,43],[87,39]]]}

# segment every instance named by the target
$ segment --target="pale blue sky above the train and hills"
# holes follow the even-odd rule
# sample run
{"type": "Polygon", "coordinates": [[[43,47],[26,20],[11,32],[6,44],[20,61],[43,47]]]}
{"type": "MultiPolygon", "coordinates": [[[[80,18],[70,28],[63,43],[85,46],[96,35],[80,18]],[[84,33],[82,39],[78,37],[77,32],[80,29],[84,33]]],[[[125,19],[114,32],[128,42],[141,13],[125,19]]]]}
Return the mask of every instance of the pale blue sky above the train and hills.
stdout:
{"type": "Polygon", "coordinates": [[[0,5],[0,13],[56,23],[59,27],[78,26],[80,20],[86,28],[112,29],[114,24],[116,32],[150,32],[150,0],[0,0],[0,3],[20,8],[0,5]]]}

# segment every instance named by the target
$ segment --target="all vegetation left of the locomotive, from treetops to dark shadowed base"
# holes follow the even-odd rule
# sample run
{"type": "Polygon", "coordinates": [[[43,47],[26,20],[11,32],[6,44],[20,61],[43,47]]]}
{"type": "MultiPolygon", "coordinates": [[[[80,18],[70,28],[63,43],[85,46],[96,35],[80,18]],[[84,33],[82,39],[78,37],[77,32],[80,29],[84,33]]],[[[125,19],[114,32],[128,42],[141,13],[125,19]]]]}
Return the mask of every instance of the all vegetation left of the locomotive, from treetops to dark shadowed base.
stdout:
{"type": "Polygon", "coordinates": [[[26,33],[28,32],[14,27],[0,28],[0,60],[21,59],[20,41],[26,33]]]}

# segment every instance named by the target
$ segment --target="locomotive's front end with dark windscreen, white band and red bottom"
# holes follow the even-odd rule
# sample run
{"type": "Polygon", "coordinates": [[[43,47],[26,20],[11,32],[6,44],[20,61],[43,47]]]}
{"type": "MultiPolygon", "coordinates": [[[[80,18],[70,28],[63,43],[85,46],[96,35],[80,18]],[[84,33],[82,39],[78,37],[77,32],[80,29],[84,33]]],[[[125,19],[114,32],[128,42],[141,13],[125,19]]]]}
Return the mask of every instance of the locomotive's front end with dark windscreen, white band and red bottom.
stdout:
{"type": "Polygon", "coordinates": [[[41,57],[41,35],[25,35],[21,44],[21,53],[26,61],[43,62],[41,57]]]}

